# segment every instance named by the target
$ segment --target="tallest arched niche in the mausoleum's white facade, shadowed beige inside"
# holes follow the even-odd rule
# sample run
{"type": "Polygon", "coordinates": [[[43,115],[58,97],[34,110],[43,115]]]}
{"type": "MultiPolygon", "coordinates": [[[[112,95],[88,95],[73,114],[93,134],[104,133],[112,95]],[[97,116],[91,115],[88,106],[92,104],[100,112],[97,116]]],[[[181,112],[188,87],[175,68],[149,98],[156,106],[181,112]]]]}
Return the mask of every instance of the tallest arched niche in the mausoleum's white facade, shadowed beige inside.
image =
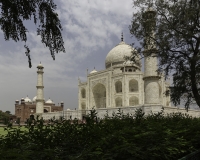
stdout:
{"type": "Polygon", "coordinates": [[[93,96],[96,108],[106,108],[106,87],[98,83],[96,84],[93,89],[93,96]]]}

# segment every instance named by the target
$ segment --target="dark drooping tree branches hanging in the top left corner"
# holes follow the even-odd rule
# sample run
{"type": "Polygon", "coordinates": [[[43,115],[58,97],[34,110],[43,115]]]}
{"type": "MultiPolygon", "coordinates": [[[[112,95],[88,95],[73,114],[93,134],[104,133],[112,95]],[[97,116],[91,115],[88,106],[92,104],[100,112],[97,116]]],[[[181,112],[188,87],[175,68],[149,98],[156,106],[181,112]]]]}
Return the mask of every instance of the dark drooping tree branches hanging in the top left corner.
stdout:
{"type": "MultiPolygon", "coordinates": [[[[27,41],[25,20],[34,20],[37,24],[37,35],[41,42],[49,48],[53,60],[55,53],[65,52],[64,41],[61,35],[62,26],[55,12],[53,0],[0,0],[0,26],[5,40],[27,41]]],[[[28,56],[29,68],[31,65],[30,49],[24,45],[28,56]]]]}

